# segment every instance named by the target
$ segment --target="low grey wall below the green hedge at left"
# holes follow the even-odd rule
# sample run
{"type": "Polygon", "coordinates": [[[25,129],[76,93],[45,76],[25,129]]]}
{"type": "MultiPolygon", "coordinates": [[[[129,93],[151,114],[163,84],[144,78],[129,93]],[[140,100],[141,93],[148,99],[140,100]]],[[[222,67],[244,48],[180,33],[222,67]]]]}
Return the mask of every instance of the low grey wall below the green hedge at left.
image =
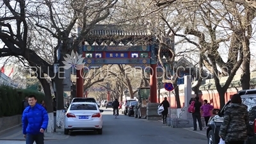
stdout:
{"type": "Polygon", "coordinates": [[[21,124],[21,115],[0,118],[0,131],[5,131],[11,127],[21,124]]]}

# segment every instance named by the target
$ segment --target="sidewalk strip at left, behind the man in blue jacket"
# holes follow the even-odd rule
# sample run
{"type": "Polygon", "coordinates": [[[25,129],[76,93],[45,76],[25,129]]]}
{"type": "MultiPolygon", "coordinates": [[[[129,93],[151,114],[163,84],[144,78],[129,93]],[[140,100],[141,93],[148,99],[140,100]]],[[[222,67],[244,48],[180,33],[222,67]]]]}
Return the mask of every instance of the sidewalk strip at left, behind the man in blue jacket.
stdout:
{"type": "MultiPolygon", "coordinates": [[[[62,140],[62,139],[67,139],[69,135],[64,134],[63,129],[56,129],[56,132],[54,133],[46,133],[44,134],[44,139],[45,140],[62,140]]],[[[12,141],[25,141],[25,138],[23,137],[22,134],[22,128],[17,127],[17,129],[14,129],[13,131],[6,132],[5,134],[2,134],[0,136],[0,142],[3,144],[2,140],[12,140],[12,141]]],[[[11,143],[10,143],[11,144],[11,143]]]]}

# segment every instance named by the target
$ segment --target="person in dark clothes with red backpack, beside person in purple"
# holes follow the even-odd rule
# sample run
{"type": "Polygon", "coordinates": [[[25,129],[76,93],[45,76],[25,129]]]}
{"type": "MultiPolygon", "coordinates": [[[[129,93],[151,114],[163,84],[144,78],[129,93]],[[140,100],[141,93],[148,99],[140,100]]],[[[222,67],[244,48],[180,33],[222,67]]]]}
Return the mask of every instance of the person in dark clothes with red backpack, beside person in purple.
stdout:
{"type": "Polygon", "coordinates": [[[193,131],[197,130],[196,120],[198,121],[200,131],[202,131],[203,127],[202,127],[201,113],[200,113],[202,102],[199,102],[199,97],[196,96],[195,99],[189,100],[189,104],[190,106],[188,108],[188,112],[192,113],[193,125],[194,125],[193,131]]]}

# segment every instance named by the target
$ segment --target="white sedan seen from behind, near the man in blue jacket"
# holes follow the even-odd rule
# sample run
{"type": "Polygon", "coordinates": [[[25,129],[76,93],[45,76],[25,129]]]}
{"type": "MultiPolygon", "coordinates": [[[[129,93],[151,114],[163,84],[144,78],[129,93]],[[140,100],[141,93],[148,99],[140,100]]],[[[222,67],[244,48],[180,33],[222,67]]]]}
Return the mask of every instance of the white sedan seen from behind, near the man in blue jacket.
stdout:
{"type": "Polygon", "coordinates": [[[64,134],[74,130],[93,130],[102,134],[103,110],[95,102],[73,102],[65,113],[64,134]]]}

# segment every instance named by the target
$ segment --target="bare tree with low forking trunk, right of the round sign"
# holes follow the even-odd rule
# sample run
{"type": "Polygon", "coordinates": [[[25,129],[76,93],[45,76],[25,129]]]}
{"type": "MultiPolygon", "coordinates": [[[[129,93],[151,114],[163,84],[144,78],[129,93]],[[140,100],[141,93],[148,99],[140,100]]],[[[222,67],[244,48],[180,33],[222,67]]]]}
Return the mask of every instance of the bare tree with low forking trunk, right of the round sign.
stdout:
{"type": "MultiPolygon", "coordinates": [[[[196,45],[200,49],[200,56],[204,60],[205,67],[213,74],[215,86],[220,95],[220,105],[223,107],[225,105],[225,92],[243,62],[243,45],[239,37],[237,37],[237,33],[240,33],[241,29],[237,29],[237,23],[234,24],[234,21],[231,21],[232,19],[226,19],[230,12],[221,8],[221,3],[214,5],[213,3],[202,3],[201,1],[201,3],[191,2],[190,5],[196,5],[195,3],[197,3],[197,7],[183,7],[186,10],[186,15],[181,15],[180,13],[181,17],[185,17],[188,20],[185,24],[180,24],[179,29],[184,28],[184,35],[175,31],[173,33],[176,36],[186,38],[189,43],[196,45]],[[223,26],[222,19],[228,20],[232,24],[230,28],[236,28],[236,31],[231,34],[227,33],[230,28],[223,26]],[[198,29],[198,26],[201,26],[202,29],[198,29]],[[222,31],[226,32],[222,34],[217,28],[222,28],[222,31]],[[193,35],[198,40],[191,40],[188,35],[193,35]],[[218,49],[221,43],[228,41],[230,41],[230,45],[228,45],[228,61],[225,62],[221,58],[218,49]],[[220,76],[228,76],[225,84],[220,84],[220,76]]],[[[182,10],[178,12],[184,13],[182,10]]]]}

